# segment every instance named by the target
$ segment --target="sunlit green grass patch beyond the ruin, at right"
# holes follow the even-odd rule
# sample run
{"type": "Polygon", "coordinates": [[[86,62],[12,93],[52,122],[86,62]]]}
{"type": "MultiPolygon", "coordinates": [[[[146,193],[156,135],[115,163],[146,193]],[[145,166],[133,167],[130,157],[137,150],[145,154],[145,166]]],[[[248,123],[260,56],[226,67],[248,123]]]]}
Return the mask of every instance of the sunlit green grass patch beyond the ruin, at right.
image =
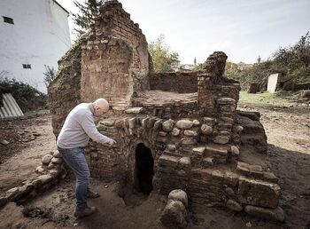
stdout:
{"type": "Polygon", "coordinates": [[[296,105],[296,102],[289,99],[290,95],[283,94],[283,92],[250,94],[246,91],[240,91],[239,96],[239,107],[291,107],[296,105]]]}

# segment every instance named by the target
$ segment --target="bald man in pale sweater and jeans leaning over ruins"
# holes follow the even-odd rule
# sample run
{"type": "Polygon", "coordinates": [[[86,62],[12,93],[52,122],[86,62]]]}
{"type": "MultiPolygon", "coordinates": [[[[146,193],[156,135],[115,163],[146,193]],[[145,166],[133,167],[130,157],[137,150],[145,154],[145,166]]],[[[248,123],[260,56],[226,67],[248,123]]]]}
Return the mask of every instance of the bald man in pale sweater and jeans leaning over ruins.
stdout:
{"type": "Polygon", "coordinates": [[[74,217],[87,217],[97,210],[87,205],[87,197],[95,198],[98,194],[89,191],[90,173],[84,147],[88,145],[89,137],[109,146],[116,143],[112,138],[99,133],[95,125],[95,116],[105,114],[108,110],[109,103],[105,99],[97,99],[93,103],[81,103],[67,115],[58,135],[58,151],[74,171],[76,178],[74,217]]]}

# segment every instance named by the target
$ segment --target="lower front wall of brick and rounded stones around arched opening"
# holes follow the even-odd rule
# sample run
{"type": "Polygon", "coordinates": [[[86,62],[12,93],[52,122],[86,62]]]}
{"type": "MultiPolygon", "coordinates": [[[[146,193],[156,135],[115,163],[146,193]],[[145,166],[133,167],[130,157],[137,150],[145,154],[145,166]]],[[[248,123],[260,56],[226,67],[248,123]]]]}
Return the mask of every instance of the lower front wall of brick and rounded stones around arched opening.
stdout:
{"type": "MultiPolygon", "coordinates": [[[[97,144],[89,147],[92,176],[133,184],[135,149],[143,142],[151,148],[153,184],[161,193],[181,188],[190,201],[235,210],[278,206],[277,178],[259,165],[238,162],[240,138],[229,138],[228,142],[217,138],[221,122],[212,117],[167,120],[128,114],[99,122],[97,128],[118,144],[112,149],[97,144]]],[[[235,129],[240,131],[242,127],[235,129]]]]}

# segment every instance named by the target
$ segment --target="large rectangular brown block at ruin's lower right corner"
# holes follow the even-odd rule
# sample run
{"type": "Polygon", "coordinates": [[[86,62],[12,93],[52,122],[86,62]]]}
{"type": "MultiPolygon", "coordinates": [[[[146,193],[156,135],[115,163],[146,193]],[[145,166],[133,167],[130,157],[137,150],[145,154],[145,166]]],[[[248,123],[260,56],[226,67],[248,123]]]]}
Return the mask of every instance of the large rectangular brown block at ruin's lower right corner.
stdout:
{"type": "Polygon", "coordinates": [[[239,178],[237,191],[241,203],[275,209],[280,198],[280,186],[266,181],[239,178]]]}

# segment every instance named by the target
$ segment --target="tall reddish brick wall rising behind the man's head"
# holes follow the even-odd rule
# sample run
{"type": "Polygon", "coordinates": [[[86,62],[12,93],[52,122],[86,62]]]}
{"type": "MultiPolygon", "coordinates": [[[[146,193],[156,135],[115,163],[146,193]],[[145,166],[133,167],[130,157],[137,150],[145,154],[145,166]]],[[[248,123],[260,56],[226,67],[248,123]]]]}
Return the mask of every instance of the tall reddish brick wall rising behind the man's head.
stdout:
{"type": "Polygon", "coordinates": [[[120,3],[106,2],[100,12],[94,36],[82,47],[81,99],[105,97],[122,110],[133,91],[149,89],[148,44],[120,3]]]}

